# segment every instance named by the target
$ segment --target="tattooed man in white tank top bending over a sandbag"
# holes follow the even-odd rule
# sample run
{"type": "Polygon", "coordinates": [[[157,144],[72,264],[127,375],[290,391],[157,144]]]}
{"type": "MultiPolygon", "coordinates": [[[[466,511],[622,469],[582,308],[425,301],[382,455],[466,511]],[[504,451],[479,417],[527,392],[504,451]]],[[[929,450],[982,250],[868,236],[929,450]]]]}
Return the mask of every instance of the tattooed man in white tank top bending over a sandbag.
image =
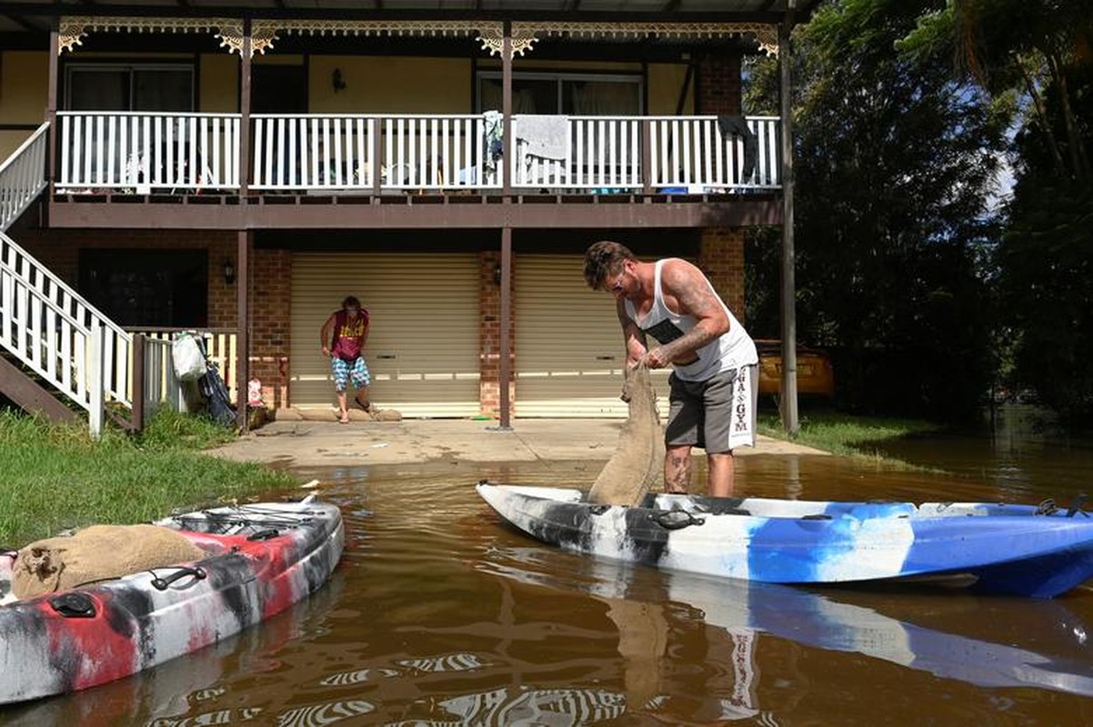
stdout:
{"type": "Polygon", "coordinates": [[[674,368],[665,489],[687,491],[691,449],[700,446],[709,494],[732,494],[732,449],[755,445],[759,354],[751,336],[705,274],[679,258],[645,263],[626,247],[602,240],[585,253],[585,282],[614,296],[628,367],[674,368]]]}

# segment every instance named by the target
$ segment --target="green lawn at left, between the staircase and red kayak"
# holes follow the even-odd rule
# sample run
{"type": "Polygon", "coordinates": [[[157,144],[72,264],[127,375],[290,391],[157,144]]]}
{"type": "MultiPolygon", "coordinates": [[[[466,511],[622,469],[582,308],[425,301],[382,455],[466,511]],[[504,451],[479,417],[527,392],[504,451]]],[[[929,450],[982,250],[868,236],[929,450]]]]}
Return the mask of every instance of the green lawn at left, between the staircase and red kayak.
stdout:
{"type": "Polygon", "coordinates": [[[107,429],[93,441],[85,426],[0,412],[0,547],[295,484],[287,473],[200,453],[234,437],[208,419],[163,413],[139,436],[107,429]]]}

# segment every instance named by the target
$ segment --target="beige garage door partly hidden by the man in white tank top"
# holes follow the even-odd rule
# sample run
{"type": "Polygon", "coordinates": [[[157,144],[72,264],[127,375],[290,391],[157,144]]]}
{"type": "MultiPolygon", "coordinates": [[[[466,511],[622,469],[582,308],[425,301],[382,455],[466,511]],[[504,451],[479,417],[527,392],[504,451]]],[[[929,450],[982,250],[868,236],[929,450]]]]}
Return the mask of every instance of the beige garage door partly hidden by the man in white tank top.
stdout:
{"type": "MultiPolygon", "coordinates": [[[[517,417],[626,417],[614,301],[589,289],[583,271],[580,255],[514,260],[517,417]]],[[[668,373],[653,372],[661,418],[668,373]]]]}

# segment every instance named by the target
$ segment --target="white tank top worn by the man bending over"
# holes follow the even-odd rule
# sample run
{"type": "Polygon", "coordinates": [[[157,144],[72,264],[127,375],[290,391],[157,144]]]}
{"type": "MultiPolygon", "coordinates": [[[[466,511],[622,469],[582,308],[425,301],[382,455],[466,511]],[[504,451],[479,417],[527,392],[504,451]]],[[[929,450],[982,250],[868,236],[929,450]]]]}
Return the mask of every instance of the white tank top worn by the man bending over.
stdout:
{"type": "MultiPolygon", "coordinates": [[[[646,335],[653,336],[660,345],[675,341],[693,329],[696,323],[694,315],[681,315],[669,310],[668,306],[665,305],[665,295],[660,289],[660,269],[663,264],[663,260],[657,261],[653,278],[653,307],[644,318],[637,318],[637,311],[631,300],[623,301],[626,305],[626,313],[637,323],[637,327],[642,329],[646,335]]],[[[709,284],[708,279],[706,285],[716,296],[717,291],[714,290],[714,286],[709,284]]],[[[729,330],[720,337],[695,350],[698,356],[695,361],[686,366],[675,366],[675,376],[683,381],[705,381],[721,371],[759,364],[755,343],[725,302],[721,302],[721,308],[729,317],[729,330]]]]}

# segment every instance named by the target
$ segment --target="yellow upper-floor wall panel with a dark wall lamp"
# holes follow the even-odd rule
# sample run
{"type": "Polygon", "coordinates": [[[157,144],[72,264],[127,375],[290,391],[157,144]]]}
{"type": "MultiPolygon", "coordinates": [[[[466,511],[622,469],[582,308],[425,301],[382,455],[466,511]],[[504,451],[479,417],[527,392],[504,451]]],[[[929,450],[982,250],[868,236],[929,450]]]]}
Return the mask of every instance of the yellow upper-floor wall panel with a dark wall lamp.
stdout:
{"type": "Polygon", "coordinates": [[[470,61],[447,58],[313,56],[308,84],[314,114],[470,114],[470,61]],[[341,69],[345,87],[334,92],[341,69]]]}

